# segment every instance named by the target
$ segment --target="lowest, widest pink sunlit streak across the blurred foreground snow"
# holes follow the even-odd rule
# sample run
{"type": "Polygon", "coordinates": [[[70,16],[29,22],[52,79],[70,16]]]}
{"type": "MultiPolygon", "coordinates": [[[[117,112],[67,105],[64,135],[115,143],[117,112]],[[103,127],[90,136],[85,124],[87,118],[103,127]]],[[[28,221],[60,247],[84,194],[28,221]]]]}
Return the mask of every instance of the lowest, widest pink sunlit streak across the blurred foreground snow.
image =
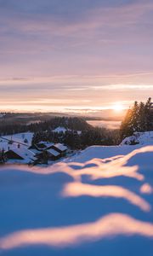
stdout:
{"type": "Polygon", "coordinates": [[[111,213],[93,223],[72,226],[20,230],[0,239],[0,249],[27,245],[72,247],[87,241],[100,241],[112,236],[153,237],[153,224],[132,218],[127,214],[111,213]]]}

